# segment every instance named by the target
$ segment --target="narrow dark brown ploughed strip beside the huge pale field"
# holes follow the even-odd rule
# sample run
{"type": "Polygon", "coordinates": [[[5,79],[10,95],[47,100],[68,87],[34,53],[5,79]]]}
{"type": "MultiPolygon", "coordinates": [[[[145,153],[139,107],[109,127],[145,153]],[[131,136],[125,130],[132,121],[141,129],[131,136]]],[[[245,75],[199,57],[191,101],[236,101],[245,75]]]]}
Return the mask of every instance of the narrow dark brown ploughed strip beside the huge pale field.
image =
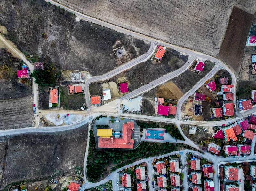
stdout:
{"type": "Polygon", "coordinates": [[[238,75],[253,15],[234,7],[220,47],[219,57],[238,75]]]}

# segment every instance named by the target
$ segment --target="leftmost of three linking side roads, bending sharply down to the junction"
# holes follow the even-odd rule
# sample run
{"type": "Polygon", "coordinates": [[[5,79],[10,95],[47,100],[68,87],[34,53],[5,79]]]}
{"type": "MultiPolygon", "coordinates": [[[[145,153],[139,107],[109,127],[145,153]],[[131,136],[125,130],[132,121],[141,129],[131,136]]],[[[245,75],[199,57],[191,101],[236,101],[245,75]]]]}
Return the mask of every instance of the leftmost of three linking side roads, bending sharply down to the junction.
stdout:
{"type": "Polygon", "coordinates": [[[130,62],[128,62],[128,63],[126,63],[126,64],[124,64],[124,65],[121,65],[121,66],[115,68],[114,70],[109,71],[109,72],[106,73],[106,74],[103,74],[103,75],[101,75],[101,76],[94,76],[94,77],[89,78],[89,79],[85,82],[85,88],[86,88],[86,91],[85,91],[85,100],[86,100],[87,108],[88,108],[88,109],[91,109],[91,108],[92,108],[92,106],[91,106],[91,101],[90,101],[90,92],[89,92],[89,85],[90,85],[90,83],[96,82],[96,81],[100,81],[100,80],[106,80],[106,79],[108,79],[108,78],[110,78],[110,77],[113,77],[113,76],[115,76],[115,75],[121,73],[121,72],[124,71],[124,70],[127,70],[127,69],[129,69],[129,68],[135,66],[136,64],[139,64],[140,62],[145,62],[145,61],[148,60],[148,59],[150,58],[150,56],[154,53],[154,51],[155,51],[155,46],[156,46],[156,45],[155,45],[154,43],[151,43],[150,48],[148,49],[148,51],[147,51],[145,54],[143,54],[143,55],[141,55],[141,56],[139,56],[139,57],[137,57],[137,58],[131,60],[130,62]]]}

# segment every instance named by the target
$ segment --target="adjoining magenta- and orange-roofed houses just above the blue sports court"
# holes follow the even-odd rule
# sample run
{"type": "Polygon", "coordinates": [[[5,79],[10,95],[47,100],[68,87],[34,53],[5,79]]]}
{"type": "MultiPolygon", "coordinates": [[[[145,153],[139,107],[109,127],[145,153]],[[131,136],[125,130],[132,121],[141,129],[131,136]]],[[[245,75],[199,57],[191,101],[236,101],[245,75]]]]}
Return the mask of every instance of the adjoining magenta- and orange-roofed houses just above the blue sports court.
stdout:
{"type": "Polygon", "coordinates": [[[176,105],[172,103],[168,103],[168,105],[164,105],[164,98],[154,98],[155,103],[157,105],[158,115],[176,115],[176,105]]]}

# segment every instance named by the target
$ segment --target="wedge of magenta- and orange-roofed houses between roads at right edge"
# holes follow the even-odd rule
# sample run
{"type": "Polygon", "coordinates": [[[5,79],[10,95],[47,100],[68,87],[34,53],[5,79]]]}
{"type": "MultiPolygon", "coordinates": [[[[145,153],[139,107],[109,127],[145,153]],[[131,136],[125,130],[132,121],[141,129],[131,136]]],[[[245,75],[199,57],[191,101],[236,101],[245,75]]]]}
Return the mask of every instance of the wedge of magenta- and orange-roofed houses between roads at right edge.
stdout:
{"type": "MultiPolygon", "coordinates": [[[[249,155],[251,151],[252,140],[255,136],[255,125],[256,125],[256,116],[251,115],[249,119],[241,119],[236,121],[235,123],[223,127],[222,129],[215,132],[212,137],[217,139],[225,139],[225,141],[230,142],[233,141],[234,145],[224,145],[224,151],[228,156],[231,155],[249,155]],[[237,136],[242,136],[240,139],[241,143],[238,144],[237,136]]],[[[221,146],[210,143],[208,145],[208,151],[219,154],[221,150],[221,146]]]]}

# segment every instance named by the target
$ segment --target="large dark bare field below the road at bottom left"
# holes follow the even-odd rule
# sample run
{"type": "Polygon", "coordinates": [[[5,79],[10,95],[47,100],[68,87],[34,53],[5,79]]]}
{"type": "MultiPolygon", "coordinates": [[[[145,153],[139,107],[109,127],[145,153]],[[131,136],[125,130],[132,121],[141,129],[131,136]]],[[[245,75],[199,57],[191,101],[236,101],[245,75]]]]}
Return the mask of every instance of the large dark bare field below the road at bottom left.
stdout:
{"type": "Polygon", "coordinates": [[[88,126],[57,133],[31,133],[8,138],[1,189],[10,183],[75,174],[83,168],[88,126]]]}

